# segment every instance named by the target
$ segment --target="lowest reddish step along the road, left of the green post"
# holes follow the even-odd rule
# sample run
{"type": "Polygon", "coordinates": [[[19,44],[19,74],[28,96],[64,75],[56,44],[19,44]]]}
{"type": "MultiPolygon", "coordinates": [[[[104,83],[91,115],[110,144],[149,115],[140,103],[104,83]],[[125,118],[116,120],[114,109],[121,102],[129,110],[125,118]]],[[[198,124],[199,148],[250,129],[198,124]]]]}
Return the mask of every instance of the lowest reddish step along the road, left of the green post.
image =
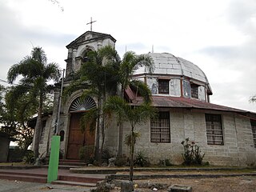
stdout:
{"type": "Polygon", "coordinates": [[[0,174],[0,179],[17,180],[22,182],[40,182],[46,183],[47,177],[44,176],[32,176],[22,174],[0,174]]]}

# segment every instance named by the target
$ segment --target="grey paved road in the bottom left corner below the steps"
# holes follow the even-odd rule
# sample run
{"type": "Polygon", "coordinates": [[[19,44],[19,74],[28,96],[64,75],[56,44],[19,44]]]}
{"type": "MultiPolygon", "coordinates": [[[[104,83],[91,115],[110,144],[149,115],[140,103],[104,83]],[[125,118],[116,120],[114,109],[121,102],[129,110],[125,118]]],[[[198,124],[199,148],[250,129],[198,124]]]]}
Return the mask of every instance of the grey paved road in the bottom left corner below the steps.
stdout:
{"type": "Polygon", "coordinates": [[[34,192],[34,191],[50,191],[50,192],[67,192],[67,191],[81,191],[89,192],[90,188],[85,186],[64,186],[64,185],[52,185],[48,183],[37,182],[20,182],[10,180],[0,180],[1,192],[34,192]]]}

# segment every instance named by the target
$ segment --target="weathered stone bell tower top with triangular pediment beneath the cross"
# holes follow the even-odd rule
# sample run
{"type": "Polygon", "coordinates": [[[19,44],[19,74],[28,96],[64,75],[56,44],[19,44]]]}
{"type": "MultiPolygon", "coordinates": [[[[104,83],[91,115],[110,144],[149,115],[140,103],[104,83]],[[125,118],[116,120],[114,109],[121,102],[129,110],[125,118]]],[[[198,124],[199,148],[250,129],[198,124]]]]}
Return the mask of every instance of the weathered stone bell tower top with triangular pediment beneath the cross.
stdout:
{"type": "Polygon", "coordinates": [[[86,61],[86,55],[90,50],[98,50],[102,46],[115,46],[116,40],[110,34],[102,34],[94,31],[86,31],[73,42],[66,46],[68,49],[66,61],[66,80],[78,71],[82,62],[86,61]]]}

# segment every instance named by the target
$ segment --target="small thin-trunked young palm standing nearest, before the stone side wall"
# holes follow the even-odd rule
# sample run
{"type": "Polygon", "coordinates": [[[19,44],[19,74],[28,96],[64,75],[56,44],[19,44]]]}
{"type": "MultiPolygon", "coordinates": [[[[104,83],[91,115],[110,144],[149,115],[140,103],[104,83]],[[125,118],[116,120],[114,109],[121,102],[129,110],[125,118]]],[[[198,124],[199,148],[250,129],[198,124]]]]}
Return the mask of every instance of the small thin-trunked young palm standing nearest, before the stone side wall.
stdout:
{"type": "Polygon", "coordinates": [[[135,132],[135,127],[142,123],[146,123],[150,117],[155,116],[154,107],[151,106],[151,93],[149,88],[146,84],[140,81],[133,81],[133,83],[134,85],[137,84],[136,87],[140,87],[140,89],[137,88],[136,91],[138,91],[138,94],[142,95],[144,98],[140,105],[130,105],[125,99],[118,96],[108,98],[105,105],[107,114],[116,114],[120,122],[130,122],[130,142],[128,142],[130,143],[130,181],[133,181],[134,177],[134,146],[135,138],[138,135],[138,133],[135,132]]]}

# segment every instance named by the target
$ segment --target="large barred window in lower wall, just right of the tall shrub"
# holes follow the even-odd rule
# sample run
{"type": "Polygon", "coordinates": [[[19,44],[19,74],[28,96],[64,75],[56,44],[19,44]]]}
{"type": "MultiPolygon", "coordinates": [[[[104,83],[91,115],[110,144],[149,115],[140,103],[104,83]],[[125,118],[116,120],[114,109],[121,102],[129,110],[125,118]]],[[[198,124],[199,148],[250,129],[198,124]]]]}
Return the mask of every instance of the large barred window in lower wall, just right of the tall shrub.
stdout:
{"type": "Polygon", "coordinates": [[[220,114],[206,114],[206,137],[208,145],[224,145],[220,114]]]}

